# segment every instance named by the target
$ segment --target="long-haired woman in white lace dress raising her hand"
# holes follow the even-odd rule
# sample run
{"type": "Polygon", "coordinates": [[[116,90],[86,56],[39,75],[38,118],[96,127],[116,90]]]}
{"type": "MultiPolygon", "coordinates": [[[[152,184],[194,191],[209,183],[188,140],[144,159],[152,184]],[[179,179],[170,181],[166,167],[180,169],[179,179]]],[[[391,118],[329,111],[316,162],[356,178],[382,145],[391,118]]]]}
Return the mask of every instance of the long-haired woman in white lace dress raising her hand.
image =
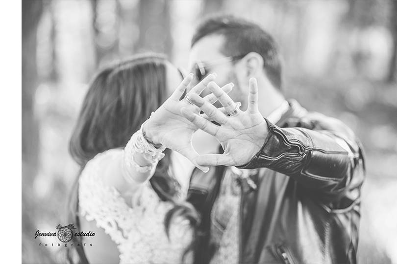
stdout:
{"type": "MultiPolygon", "coordinates": [[[[81,262],[182,261],[191,242],[189,222],[168,219],[167,224],[172,224],[166,234],[164,219],[175,203],[183,203],[186,193],[186,185],[181,190],[176,180],[175,168],[185,183],[189,171],[170,149],[195,164],[198,154],[191,138],[196,128],[180,110],[199,109],[180,98],[186,88],[199,94],[215,74],[193,88],[189,87],[192,76],[180,83],[180,72],[164,57],[142,55],[104,68],[91,83],[70,142],[70,152],[81,166],[78,196],[72,192],[77,200],[71,221],[78,231],[95,233],[82,241],[74,237],[75,242],[93,244],[75,247],[81,262]],[[175,87],[166,100],[167,88],[175,87]]],[[[208,95],[205,100],[216,99],[208,95]]],[[[73,262],[72,250],[69,253],[73,262]]]]}

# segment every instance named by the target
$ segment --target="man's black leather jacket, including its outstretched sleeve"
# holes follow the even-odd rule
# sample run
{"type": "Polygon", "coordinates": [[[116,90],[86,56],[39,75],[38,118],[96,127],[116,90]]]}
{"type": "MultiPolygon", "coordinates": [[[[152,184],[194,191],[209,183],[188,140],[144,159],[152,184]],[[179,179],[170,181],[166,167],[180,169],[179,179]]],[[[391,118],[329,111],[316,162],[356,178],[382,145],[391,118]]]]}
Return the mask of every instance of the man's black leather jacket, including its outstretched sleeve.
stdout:
{"type": "MultiPolygon", "coordinates": [[[[356,263],[361,144],[339,120],[309,113],[296,101],[241,169],[239,263],[356,263]]],[[[223,166],[193,172],[188,196],[209,215],[223,166]]],[[[208,221],[204,217],[203,221],[208,221]]]]}

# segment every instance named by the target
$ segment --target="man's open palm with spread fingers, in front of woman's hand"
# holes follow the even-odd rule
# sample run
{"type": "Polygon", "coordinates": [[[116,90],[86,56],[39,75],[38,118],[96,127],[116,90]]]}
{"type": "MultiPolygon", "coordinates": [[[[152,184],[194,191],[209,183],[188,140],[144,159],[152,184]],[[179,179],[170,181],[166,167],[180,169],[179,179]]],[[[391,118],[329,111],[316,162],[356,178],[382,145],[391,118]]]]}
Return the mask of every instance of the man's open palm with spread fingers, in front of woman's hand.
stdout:
{"type": "Polygon", "coordinates": [[[249,160],[261,149],[267,134],[265,119],[258,110],[258,88],[257,82],[251,78],[250,91],[248,95],[248,110],[236,110],[236,103],[223,92],[214,82],[208,85],[211,92],[223,104],[226,112],[235,112],[232,116],[227,116],[221,110],[215,108],[201,97],[192,95],[192,102],[198,106],[205,114],[199,115],[196,111],[183,108],[183,115],[197,128],[214,135],[221,143],[223,154],[206,154],[196,158],[199,165],[214,166],[239,166],[249,162],[249,160]],[[220,125],[215,125],[207,119],[215,120],[220,125]]]}

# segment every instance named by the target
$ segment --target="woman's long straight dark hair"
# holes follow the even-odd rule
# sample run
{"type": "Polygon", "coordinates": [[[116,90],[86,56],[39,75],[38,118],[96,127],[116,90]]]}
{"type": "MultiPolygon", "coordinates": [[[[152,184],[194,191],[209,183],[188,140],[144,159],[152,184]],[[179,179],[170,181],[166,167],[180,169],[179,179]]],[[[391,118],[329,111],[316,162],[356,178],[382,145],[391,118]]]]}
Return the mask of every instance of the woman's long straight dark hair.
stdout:
{"type": "MultiPolygon", "coordinates": [[[[70,140],[69,150],[80,165],[69,199],[68,220],[79,228],[78,178],[86,163],[106,150],[123,148],[131,135],[167,99],[167,60],[159,54],[132,57],[103,68],[91,82],[70,140]]],[[[170,150],[160,160],[150,184],[162,200],[174,200],[180,185],[171,173],[170,150]]],[[[68,222],[69,223],[69,222],[68,222]]],[[[74,237],[74,242],[81,241],[74,237]]],[[[82,246],[74,247],[78,263],[88,263],[82,246]]],[[[73,249],[67,250],[70,263],[73,249]]]]}

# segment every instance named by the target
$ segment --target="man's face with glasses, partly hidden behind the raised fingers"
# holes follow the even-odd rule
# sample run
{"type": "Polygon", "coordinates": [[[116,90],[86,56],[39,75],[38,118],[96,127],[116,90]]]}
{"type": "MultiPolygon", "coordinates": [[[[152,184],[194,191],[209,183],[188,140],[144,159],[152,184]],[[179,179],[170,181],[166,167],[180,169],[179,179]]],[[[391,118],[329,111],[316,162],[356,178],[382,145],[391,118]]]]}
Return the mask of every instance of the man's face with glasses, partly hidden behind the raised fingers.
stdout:
{"type": "MultiPolygon", "coordinates": [[[[237,65],[233,62],[228,61],[227,57],[222,54],[221,49],[223,47],[224,38],[220,35],[209,35],[199,40],[191,49],[189,55],[189,70],[195,74],[195,80],[193,85],[198,83],[197,74],[195,69],[196,64],[201,64],[204,67],[206,74],[215,72],[217,78],[215,82],[223,87],[224,85],[233,82],[234,88],[229,93],[229,96],[235,101],[240,101],[245,105],[245,96],[240,86],[239,76],[237,71],[237,65]]],[[[240,54],[233,54],[234,56],[240,54]]],[[[197,67],[197,66],[196,66],[197,67]]],[[[210,92],[205,89],[201,96],[205,96],[210,92]]],[[[214,104],[216,107],[221,107],[219,102],[214,104]]]]}

